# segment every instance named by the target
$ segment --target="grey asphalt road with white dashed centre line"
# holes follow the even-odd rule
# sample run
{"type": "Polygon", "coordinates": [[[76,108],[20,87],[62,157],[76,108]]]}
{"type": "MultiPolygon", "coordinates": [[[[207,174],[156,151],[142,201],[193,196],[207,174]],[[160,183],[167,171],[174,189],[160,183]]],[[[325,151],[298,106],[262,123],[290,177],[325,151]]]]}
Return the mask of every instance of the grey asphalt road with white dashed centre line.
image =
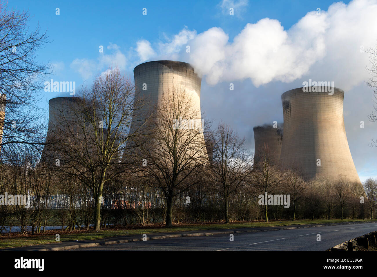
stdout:
{"type": "Polygon", "coordinates": [[[236,233],[203,237],[178,237],[114,245],[78,248],[71,251],[324,251],[346,240],[377,230],[377,224],[363,223],[311,227],[256,233],[236,233]],[[320,241],[317,241],[320,234],[320,241]]]}

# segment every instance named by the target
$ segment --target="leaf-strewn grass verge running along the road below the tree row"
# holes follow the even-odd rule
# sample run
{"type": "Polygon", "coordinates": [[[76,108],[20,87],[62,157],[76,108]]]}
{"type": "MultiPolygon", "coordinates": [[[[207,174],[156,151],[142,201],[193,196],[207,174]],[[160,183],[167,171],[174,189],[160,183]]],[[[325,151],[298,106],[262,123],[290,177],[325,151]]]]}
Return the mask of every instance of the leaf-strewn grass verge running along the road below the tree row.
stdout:
{"type": "Polygon", "coordinates": [[[40,245],[46,243],[58,243],[55,241],[55,234],[60,235],[60,242],[67,242],[72,240],[98,240],[106,237],[115,236],[131,236],[143,235],[150,233],[175,233],[181,231],[197,231],[197,230],[227,230],[236,228],[254,228],[254,227],[271,227],[271,226],[287,226],[287,225],[305,225],[305,224],[323,224],[323,223],[340,223],[340,222],[375,222],[370,219],[321,219],[321,220],[276,220],[270,222],[261,221],[237,221],[229,224],[225,223],[196,223],[196,224],[174,224],[172,228],[165,228],[163,225],[149,225],[149,226],[133,226],[132,228],[109,228],[100,231],[93,230],[74,230],[74,231],[61,231],[61,230],[46,230],[46,233],[40,234],[11,234],[0,236],[0,248],[22,247],[30,245],[40,245]]]}

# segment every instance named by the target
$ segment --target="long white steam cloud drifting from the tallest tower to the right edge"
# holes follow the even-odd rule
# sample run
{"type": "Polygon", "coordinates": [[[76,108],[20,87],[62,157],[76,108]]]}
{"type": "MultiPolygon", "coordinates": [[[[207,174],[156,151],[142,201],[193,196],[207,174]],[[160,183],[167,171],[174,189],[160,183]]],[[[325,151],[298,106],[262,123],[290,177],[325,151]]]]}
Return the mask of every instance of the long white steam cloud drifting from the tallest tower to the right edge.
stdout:
{"type": "MultiPolygon", "coordinates": [[[[338,2],[320,14],[308,12],[288,30],[276,19],[248,23],[233,41],[218,27],[200,34],[185,27],[167,43],[158,43],[154,58],[187,61],[212,85],[250,79],[258,87],[308,77],[347,90],[368,78],[368,55],[360,47],[377,43],[376,14],[377,0],[338,2]]],[[[148,49],[149,58],[152,52],[148,49]]]]}

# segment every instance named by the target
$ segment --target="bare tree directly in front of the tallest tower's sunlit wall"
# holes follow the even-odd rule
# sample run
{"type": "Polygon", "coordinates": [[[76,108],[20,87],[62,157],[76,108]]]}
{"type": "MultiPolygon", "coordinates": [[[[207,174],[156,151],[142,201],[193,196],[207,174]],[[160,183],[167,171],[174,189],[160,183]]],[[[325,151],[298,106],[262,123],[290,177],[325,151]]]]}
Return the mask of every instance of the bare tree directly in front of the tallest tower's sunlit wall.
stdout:
{"type": "Polygon", "coordinates": [[[191,177],[208,163],[203,135],[206,125],[195,103],[183,87],[173,86],[165,91],[158,105],[150,107],[153,115],[145,137],[147,143],[140,148],[136,160],[150,185],[163,192],[167,227],[172,226],[174,198],[198,184],[199,179],[191,177]]]}

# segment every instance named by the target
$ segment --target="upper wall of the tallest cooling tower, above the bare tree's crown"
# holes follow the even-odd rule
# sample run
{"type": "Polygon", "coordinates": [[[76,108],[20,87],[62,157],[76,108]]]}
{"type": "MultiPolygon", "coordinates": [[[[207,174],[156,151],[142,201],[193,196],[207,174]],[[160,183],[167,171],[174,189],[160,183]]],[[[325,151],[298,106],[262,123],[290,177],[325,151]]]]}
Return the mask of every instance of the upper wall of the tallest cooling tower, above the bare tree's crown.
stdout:
{"type": "MultiPolygon", "coordinates": [[[[180,61],[150,61],[136,66],[133,74],[136,95],[143,99],[144,103],[147,103],[150,113],[153,113],[153,109],[162,103],[164,93],[172,91],[174,87],[178,91],[185,90],[186,95],[192,99],[193,110],[197,112],[195,118],[201,120],[201,78],[190,64],[180,61]]],[[[145,110],[143,112],[135,111],[130,133],[143,124],[144,113],[145,110]]]]}

